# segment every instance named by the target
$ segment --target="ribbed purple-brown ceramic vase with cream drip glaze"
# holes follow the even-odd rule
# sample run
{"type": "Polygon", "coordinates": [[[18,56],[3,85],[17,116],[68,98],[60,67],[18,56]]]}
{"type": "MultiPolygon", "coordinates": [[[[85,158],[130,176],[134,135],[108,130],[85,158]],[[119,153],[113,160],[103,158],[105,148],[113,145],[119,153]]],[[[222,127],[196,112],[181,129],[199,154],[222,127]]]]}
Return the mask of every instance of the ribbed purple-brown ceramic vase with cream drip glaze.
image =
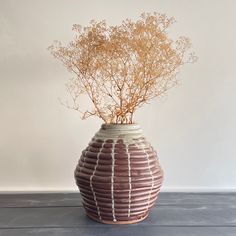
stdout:
{"type": "Polygon", "coordinates": [[[163,171],[138,124],[103,124],[82,152],[75,179],[90,218],[131,224],[148,216],[163,171]]]}

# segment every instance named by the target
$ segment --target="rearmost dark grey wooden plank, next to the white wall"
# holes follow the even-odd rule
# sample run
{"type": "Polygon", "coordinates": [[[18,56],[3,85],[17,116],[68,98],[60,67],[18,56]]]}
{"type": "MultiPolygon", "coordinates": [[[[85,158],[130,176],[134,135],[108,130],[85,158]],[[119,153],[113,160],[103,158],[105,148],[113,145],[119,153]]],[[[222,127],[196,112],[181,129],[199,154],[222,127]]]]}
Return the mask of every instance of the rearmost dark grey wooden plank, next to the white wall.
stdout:
{"type": "MultiPolygon", "coordinates": [[[[236,193],[160,193],[161,205],[236,205],[236,193]]],[[[79,193],[0,194],[1,207],[82,206],[79,193]]]]}

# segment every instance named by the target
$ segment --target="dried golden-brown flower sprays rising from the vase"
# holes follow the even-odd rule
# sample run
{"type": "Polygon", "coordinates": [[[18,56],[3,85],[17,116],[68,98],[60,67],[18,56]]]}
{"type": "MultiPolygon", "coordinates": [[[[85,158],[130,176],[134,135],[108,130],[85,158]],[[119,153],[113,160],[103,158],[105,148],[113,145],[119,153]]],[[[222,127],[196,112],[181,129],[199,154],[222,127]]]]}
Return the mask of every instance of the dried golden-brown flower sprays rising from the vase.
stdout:
{"type": "Polygon", "coordinates": [[[67,46],[55,41],[49,50],[74,73],[67,84],[73,108],[82,118],[98,116],[105,123],[133,123],[138,107],[160,97],[177,84],[181,66],[196,61],[189,38],[176,41],[167,29],[175,22],[165,14],[143,13],[137,21],[119,26],[91,21],[74,25],[76,36],[67,46]],[[80,96],[87,94],[92,110],[82,111],[80,96]]]}

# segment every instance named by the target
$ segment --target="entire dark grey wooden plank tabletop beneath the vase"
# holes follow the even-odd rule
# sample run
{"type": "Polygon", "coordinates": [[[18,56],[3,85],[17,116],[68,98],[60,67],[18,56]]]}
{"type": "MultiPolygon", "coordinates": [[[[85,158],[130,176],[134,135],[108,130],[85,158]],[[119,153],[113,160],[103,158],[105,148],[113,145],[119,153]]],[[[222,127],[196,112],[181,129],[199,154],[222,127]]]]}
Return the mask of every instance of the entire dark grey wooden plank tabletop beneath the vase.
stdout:
{"type": "Polygon", "coordinates": [[[79,193],[1,194],[0,236],[236,236],[236,193],[160,193],[144,221],[90,220],[79,193]]]}

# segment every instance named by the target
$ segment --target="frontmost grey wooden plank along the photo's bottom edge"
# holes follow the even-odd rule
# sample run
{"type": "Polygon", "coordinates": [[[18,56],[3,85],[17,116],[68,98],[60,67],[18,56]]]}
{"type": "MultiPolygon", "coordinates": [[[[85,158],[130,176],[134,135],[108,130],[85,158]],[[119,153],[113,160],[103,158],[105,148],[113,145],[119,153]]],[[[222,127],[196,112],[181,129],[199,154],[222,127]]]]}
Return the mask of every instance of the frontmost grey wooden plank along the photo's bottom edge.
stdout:
{"type": "Polygon", "coordinates": [[[113,226],[109,228],[28,228],[0,230],[0,236],[235,236],[235,227],[149,227],[113,226]]]}

